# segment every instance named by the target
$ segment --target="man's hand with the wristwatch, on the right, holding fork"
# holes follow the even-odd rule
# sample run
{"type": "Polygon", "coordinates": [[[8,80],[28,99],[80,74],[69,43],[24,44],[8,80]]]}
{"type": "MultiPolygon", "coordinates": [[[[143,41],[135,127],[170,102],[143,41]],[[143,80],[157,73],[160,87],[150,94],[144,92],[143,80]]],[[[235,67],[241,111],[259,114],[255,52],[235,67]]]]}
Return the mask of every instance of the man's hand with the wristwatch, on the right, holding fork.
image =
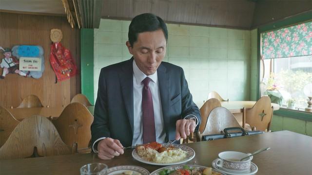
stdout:
{"type": "Polygon", "coordinates": [[[195,131],[196,123],[194,120],[181,119],[176,121],[176,140],[180,138],[186,139],[195,131]]]}

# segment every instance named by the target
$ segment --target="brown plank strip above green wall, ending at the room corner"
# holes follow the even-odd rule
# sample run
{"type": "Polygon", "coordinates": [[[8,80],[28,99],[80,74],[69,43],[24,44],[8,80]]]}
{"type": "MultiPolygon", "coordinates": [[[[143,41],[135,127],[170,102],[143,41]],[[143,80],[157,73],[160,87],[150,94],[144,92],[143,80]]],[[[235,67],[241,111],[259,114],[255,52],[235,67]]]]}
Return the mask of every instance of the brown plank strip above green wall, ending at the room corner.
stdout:
{"type": "Polygon", "coordinates": [[[102,18],[154,13],[168,23],[250,29],[254,7],[251,0],[103,0],[102,18]]]}

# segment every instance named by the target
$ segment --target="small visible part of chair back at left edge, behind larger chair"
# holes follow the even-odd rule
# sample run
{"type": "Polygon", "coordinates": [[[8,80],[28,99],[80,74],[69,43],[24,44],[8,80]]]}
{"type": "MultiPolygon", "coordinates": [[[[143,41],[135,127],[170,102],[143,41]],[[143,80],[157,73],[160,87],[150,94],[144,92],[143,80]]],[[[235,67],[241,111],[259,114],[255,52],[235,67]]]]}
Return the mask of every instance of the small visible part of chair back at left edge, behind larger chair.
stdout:
{"type": "Polygon", "coordinates": [[[0,147],[19,123],[6,108],[0,106],[0,147]]]}

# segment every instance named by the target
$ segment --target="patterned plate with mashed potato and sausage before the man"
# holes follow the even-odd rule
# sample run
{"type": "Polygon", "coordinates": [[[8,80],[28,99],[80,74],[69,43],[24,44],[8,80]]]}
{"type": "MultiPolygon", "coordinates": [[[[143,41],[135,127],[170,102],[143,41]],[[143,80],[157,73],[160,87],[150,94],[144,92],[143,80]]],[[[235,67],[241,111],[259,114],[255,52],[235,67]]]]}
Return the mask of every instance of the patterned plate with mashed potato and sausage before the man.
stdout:
{"type": "Polygon", "coordinates": [[[132,151],[132,157],[137,161],[150,165],[176,165],[188,162],[195,157],[195,151],[182,144],[172,144],[170,148],[160,151],[166,143],[149,143],[137,146],[132,151]],[[151,146],[152,145],[152,146],[151,146]]]}

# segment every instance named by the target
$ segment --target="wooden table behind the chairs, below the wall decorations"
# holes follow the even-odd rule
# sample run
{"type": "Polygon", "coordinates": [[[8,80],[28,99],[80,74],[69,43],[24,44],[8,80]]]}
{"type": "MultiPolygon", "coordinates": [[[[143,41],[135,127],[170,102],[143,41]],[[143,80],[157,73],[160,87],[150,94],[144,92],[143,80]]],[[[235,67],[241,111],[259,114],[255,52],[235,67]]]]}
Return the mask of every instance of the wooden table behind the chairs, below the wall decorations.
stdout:
{"type": "MultiPolygon", "coordinates": [[[[31,107],[31,108],[8,108],[7,110],[15,117],[18,121],[22,121],[26,117],[33,115],[40,115],[43,117],[53,117],[57,119],[65,107],[57,106],[57,107],[31,107]]],[[[93,115],[94,106],[87,107],[91,114],[93,115]]]]}

